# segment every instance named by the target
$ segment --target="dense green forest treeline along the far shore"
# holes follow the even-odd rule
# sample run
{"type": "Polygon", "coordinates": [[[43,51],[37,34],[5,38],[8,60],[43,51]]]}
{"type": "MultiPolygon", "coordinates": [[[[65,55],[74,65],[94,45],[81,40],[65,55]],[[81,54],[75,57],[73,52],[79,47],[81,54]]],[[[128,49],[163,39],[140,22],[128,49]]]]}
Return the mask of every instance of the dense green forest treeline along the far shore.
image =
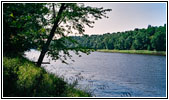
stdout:
{"type": "Polygon", "coordinates": [[[70,48],[84,47],[90,49],[117,50],[166,50],[166,24],[145,29],[135,28],[131,31],[106,33],[103,35],[71,36],[78,42],[69,44],[70,48]]]}

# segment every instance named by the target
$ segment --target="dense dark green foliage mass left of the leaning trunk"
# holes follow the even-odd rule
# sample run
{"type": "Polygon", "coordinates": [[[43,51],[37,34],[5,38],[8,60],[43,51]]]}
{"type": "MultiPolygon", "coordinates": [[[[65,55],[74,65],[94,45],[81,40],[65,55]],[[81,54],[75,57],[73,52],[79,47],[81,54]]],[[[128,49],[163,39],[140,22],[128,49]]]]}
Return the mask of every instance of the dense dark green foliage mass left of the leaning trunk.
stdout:
{"type": "Polygon", "coordinates": [[[3,4],[3,49],[4,52],[24,52],[43,44],[47,25],[46,4],[3,4]]]}

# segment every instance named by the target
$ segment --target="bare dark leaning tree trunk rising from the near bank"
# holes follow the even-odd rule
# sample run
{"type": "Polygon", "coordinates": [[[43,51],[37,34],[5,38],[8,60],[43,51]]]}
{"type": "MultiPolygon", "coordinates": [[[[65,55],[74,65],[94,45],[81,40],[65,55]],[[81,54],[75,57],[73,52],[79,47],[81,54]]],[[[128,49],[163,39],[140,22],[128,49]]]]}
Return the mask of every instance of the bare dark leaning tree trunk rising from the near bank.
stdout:
{"type": "MultiPolygon", "coordinates": [[[[37,62],[37,65],[38,65],[38,66],[41,66],[41,64],[42,64],[43,58],[44,58],[46,52],[48,51],[50,42],[52,41],[52,38],[53,38],[54,33],[55,33],[55,31],[56,31],[56,28],[58,27],[59,21],[60,21],[60,19],[61,19],[61,15],[62,15],[63,10],[64,10],[65,8],[66,8],[66,7],[65,7],[65,4],[62,3],[62,4],[61,4],[61,7],[60,7],[60,9],[59,9],[59,12],[58,12],[58,14],[57,14],[56,20],[55,20],[55,22],[54,22],[54,25],[53,25],[53,27],[52,27],[52,30],[51,30],[51,32],[50,32],[50,34],[49,34],[49,37],[48,37],[46,43],[44,44],[44,46],[43,46],[43,48],[42,48],[41,54],[40,54],[39,59],[38,59],[38,62],[37,62]]],[[[53,5],[53,11],[54,11],[54,17],[55,17],[54,5],[53,5]]]]}

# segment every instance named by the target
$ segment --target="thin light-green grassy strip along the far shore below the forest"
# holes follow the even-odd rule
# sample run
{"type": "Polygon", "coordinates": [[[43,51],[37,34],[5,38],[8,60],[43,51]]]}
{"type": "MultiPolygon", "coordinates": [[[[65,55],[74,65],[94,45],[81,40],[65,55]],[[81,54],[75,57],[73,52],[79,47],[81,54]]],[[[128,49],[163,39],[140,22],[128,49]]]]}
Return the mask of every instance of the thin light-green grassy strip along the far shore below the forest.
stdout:
{"type": "Polygon", "coordinates": [[[130,54],[148,54],[148,55],[161,55],[165,56],[165,51],[148,51],[148,50],[107,50],[99,49],[98,52],[112,52],[112,53],[130,53],[130,54]]]}

